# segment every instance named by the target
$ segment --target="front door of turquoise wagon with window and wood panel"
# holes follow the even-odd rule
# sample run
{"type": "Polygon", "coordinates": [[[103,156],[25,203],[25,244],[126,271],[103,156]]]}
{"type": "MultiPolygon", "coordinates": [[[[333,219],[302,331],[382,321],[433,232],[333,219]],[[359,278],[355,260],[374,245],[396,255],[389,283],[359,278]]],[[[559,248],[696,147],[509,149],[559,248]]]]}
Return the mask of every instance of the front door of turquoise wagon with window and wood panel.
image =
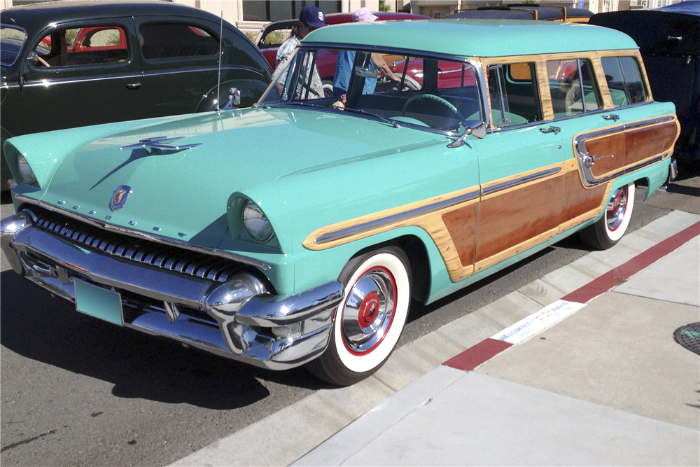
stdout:
{"type": "Polygon", "coordinates": [[[536,62],[485,64],[491,130],[479,145],[481,201],[475,272],[556,235],[567,169],[545,123],[536,62]]]}

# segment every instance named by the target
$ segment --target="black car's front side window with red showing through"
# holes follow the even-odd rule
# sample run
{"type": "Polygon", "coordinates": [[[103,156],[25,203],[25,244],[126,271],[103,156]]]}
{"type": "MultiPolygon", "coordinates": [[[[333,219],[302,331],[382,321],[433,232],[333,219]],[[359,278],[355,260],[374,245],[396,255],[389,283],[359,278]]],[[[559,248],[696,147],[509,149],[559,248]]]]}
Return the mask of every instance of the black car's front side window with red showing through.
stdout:
{"type": "Polygon", "coordinates": [[[124,29],[118,26],[85,26],[57,29],[38,41],[36,67],[78,67],[129,60],[124,29]]]}

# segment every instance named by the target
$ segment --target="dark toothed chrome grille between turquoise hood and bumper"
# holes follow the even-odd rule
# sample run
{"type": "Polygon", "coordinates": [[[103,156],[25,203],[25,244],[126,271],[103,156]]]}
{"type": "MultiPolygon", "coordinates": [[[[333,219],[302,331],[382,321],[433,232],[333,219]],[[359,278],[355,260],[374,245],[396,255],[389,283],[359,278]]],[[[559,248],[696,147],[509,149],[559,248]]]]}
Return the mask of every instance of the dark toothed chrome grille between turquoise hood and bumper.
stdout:
{"type": "Polygon", "coordinates": [[[136,263],[218,282],[225,282],[232,274],[244,269],[232,260],[106,232],[47,209],[32,207],[31,212],[36,215],[35,225],[38,228],[69,238],[87,248],[136,263]]]}

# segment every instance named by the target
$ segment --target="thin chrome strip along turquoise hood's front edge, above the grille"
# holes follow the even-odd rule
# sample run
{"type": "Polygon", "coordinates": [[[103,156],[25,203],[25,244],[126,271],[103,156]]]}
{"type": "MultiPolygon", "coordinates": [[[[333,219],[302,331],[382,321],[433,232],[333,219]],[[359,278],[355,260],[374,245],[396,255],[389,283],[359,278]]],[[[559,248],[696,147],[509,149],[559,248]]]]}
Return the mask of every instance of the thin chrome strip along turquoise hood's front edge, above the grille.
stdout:
{"type": "Polygon", "coordinates": [[[204,254],[211,255],[211,256],[218,256],[220,258],[227,258],[227,259],[234,260],[234,261],[237,261],[237,262],[242,263],[242,264],[260,267],[260,269],[265,270],[265,271],[272,269],[272,266],[268,265],[267,263],[263,263],[262,261],[256,260],[255,258],[248,258],[247,256],[242,256],[242,255],[239,255],[237,253],[231,253],[230,251],[220,250],[220,249],[216,249],[216,248],[210,248],[209,246],[195,245],[195,244],[191,244],[188,242],[182,242],[182,241],[176,240],[176,239],[162,237],[161,235],[154,235],[151,233],[139,232],[138,230],[132,230],[132,229],[127,229],[127,228],[123,228],[123,227],[118,227],[116,225],[110,225],[110,224],[104,223],[102,221],[97,221],[97,219],[83,216],[82,214],[77,214],[76,212],[73,212],[73,211],[68,211],[67,209],[55,207],[52,204],[48,204],[47,202],[34,200],[33,198],[27,197],[25,195],[20,195],[19,193],[15,193],[15,198],[21,202],[25,202],[27,204],[34,204],[38,207],[42,207],[43,209],[47,209],[48,211],[57,212],[59,214],[62,214],[63,216],[76,219],[78,221],[87,223],[88,225],[92,225],[92,226],[97,227],[97,228],[101,228],[101,229],[106,230],[108,232],[118,232],[122,235],[127,235],[129,237],[134,237],[134,238],[138,238],[138,239],[146,239],[146,240],[150,240],[151,242],[177,246],[178,248],[189,250],[189,251],[195,251],[197,253],[204,253],[204,254]]]}

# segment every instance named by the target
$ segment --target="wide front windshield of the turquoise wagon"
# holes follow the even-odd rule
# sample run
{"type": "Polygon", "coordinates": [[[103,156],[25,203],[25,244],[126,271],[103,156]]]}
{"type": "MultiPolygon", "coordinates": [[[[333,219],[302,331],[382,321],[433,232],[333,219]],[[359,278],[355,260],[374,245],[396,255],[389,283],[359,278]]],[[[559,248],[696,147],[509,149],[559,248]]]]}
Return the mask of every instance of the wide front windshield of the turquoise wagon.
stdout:
{"type": "Polygon", "coordinates": [[[287,67],[275,71],[258,104],[364,114],[448,132],[464,121],[483,120],[477,82],[464,59],[299,48],[287,67]]]}

